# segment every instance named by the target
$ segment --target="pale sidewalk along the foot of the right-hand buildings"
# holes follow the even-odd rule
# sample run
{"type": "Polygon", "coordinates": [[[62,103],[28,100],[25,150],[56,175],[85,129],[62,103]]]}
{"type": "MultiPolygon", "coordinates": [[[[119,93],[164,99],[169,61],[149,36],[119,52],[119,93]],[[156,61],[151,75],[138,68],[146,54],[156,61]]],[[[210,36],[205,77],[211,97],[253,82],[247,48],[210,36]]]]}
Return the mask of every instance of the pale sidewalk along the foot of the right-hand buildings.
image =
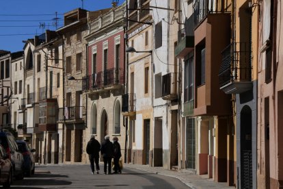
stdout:
{"type": "Polygon", "coordinates": [[[179,179],[184,184],[190,188],[227,188],[233,189],[234,187],[226,186],[226,183],[219,183],[213,181],[213,179],[208,179],[206,176],[194,175],[189,171],[170,171],[163,169],[161,167],[151,167],[148,165],[139,165],[139,164],[124,164],[125,167],[135,168],[141,171],[146,171],[149,173],[156,173],[159,175],[165,175],[169,177],[175,177],[179,179]]]}

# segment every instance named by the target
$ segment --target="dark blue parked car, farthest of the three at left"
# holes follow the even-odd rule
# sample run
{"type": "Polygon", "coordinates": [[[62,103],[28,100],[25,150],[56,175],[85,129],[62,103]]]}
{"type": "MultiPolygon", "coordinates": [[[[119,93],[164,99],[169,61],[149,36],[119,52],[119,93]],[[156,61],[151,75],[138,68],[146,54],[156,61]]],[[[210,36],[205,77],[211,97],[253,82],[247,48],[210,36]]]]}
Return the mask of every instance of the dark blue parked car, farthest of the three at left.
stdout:
{"type": "Polygon", "coordinates": [[[36,150],[29,149],[29,146],[23,140],[16,140],[16,144],[18,144],[18,150],[21,151],[24,157],[24,172],[27,174],[27,177],[30,177],[34,174],[36,168],[36,162],[32,154],[36,150]]]}

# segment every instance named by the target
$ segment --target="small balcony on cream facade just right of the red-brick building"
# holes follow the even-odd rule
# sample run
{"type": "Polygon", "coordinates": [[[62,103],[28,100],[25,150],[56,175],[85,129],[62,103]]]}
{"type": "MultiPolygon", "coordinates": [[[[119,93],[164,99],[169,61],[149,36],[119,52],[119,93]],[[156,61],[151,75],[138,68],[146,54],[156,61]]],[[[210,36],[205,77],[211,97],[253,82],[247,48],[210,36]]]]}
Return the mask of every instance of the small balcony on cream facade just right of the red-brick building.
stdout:
{"type": "Polygon", "coordinates": [[[122,95],[122,114],[124,116],[135,116],[135,93],[122,95]]]}

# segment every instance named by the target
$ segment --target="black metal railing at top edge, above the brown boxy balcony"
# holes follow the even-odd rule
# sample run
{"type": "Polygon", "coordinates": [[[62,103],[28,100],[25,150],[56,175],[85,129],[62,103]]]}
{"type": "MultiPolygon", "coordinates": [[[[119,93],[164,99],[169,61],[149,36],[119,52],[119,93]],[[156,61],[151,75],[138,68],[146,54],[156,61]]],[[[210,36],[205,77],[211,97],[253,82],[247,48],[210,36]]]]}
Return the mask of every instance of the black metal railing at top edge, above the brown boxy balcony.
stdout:
{"type": "Polygon", "coordinates": [[[197,27],[207,14],[230,12],[231,3],[228,0],[196,0],[193,4],[193,23],[197,27]]]}

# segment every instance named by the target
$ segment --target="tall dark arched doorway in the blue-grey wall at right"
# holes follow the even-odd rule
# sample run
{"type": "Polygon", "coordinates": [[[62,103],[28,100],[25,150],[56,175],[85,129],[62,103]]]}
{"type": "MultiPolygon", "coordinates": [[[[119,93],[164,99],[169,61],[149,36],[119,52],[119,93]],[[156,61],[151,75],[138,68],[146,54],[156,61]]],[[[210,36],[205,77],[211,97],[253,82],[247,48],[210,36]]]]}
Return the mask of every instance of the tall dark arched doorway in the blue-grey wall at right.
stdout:
{"type": "Polygon", "coordinates": [[[252,188],[252,110],[241,110],[241,188],[252,188]]]}

